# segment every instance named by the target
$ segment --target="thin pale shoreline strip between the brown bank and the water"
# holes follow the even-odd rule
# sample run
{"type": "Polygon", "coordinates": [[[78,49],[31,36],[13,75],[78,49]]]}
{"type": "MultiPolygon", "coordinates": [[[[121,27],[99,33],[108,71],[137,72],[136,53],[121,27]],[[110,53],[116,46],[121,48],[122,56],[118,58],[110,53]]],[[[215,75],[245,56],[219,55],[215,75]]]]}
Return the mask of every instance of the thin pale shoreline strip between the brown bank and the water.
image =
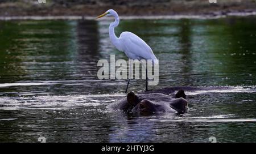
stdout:
{"type": "MultiPolygon", "coordinates": [[[[213,14],[202,15],[139,15],[139,16],[119,16],[120,19],[134,20],[134,19],[219,19],[227,18],[229,16],[256,16],[255,11],[242,11],[242,12],[214,12],[213,14]]],[[[82,16],[82,15],[56,15],[56,16],[0,16],[0,20],[96,20],[96,16],[82,16]]],[[[98,20],[112,20],[112,19],[98,19],[98,20]]]]}

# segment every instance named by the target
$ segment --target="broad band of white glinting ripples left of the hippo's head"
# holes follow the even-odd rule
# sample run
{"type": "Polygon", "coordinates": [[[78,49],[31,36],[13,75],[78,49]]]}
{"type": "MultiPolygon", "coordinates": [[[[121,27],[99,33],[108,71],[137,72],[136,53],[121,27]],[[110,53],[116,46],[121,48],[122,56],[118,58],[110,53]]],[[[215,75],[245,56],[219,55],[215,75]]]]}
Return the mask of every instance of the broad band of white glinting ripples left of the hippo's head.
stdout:
{"type": "Polygon", "coordinates": [[[15,96],[0,97],[0,109],[68,109],[82,106],[104,106],[106,103],[116,101],[115,97],[125,95],[67,95],[67,96],[15,96]],[[104,100],[99,100],[103,97],[104,100]]]}

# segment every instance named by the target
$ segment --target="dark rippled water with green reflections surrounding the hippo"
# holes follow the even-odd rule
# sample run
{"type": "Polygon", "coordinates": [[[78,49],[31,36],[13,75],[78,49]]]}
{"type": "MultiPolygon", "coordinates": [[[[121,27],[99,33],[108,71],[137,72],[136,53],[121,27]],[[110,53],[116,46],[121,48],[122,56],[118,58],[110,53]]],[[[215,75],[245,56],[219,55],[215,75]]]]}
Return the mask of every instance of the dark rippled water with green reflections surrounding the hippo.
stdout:
{"type": "Polygon", "coordinates": [[[147,117],[106,109],[126,81],[98,80],[98,59],[127,59],[109,20],[1,21],[0,142],[256,142],[255,19],[121,20],[116,33],[136,33],[159,58],[150,89],[216,87],[185,91],[186,114],[147,117]]]}

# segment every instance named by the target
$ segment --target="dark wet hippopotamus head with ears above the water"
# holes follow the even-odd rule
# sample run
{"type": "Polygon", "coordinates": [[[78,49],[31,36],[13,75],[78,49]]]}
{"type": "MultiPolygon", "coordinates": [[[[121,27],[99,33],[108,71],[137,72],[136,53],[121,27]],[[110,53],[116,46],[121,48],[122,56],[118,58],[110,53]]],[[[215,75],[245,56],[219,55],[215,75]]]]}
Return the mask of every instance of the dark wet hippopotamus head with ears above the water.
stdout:
{"type": "Polygon", "coordinates": [[[188,108],[185,97],[183,90],[177,92],[175,98],[163,93],[141,93],[135,95],[134,92],[129,92],[125,98],[108,105],[108,108],[142,115],[155,113],[183,114],[188,108]]]}

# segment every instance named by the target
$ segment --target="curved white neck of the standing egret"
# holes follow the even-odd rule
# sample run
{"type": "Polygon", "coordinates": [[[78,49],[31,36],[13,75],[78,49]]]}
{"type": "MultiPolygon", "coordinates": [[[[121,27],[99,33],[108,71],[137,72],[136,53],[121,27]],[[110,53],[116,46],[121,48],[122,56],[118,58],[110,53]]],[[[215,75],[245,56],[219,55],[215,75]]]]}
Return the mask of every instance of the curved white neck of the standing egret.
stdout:
{"type": "Polygon", "coordinates": [[[118,37],[115,35],[115,31],[114,28],[118,26],[119,24],[119,17],[118,14],[114,15],[115,18],[115,22],[110,23],[109,25],[109,37],[110,37],[110,41],[112,42],[112,44],[118,49],[119,49],[119,41],[118,41],[118,37]]]}

